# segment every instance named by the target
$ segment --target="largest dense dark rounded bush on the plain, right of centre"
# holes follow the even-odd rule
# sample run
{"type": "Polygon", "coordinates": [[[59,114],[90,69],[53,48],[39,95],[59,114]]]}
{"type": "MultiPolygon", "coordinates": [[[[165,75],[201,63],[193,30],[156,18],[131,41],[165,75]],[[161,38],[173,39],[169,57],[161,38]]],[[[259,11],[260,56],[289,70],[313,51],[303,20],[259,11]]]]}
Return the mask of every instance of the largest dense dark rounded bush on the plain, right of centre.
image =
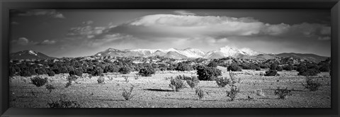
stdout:
{"type": "Polygon", "coordinates": [[[198,79],[200,80],[214,80],[216,77],[221,76],[221,70],[213,67],[198,66],[197,68],[198,79]]]}

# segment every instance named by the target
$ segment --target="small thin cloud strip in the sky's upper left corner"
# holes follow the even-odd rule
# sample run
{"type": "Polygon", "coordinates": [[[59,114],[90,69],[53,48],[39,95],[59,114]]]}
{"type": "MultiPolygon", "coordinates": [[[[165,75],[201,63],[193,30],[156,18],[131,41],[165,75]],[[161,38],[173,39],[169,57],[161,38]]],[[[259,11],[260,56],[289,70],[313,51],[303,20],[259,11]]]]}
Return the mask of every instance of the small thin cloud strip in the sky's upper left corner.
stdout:
{"type": "Polygon", "coordinates": [[[60,12],[55,9],[34,9],[18,13],[18,16],[50,16],[52,18],[65,18],[60,12]]]}

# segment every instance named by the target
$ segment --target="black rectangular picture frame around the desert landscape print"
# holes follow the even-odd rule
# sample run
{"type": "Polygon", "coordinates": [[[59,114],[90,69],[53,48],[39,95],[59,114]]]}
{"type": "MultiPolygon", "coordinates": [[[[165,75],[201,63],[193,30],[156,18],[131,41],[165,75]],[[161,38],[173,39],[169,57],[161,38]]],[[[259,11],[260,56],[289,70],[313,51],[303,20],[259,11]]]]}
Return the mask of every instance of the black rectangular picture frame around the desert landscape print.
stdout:
{"type": "Polygon", "coordinates": [[[0,1],[1,116],[339,116],[339,0],[22,0],[0,1]],[[8,108],[10,9],[329,9],[331,108],[8,108]]]}

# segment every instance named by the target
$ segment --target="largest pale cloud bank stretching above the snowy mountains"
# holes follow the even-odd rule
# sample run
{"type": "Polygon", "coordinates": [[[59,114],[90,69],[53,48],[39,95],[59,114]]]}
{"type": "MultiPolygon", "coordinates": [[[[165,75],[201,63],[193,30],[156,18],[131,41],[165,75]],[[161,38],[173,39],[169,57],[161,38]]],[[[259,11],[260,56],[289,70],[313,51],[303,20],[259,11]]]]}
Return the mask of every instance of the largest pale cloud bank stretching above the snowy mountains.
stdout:
{"type": "Polygon", "coordinates": [[[108,26],[94,27],[91,26],[92,23],[94,21],[84,21],[79,27],[71,28],[67,35],[72,39],[84,40],[82,45],[90,47],[118,45],[118,43],[135,43],[136,45],[149,43],[149,45],[159,44],[177,47],[180,45],[209,45],[211,48],[242,39],[259,41],[268,41],[268,39],[271,41],[278,38],[287,41],[299,38],[316,41],[330,40],[331,31],[329,26],[319,23],[270,24],[251,17],[233,18],[173,14],[142,16],[118,26],[113,26],[110,23],[108,26]],[[235,37],[238,40],[235,40],[235,37]]]}

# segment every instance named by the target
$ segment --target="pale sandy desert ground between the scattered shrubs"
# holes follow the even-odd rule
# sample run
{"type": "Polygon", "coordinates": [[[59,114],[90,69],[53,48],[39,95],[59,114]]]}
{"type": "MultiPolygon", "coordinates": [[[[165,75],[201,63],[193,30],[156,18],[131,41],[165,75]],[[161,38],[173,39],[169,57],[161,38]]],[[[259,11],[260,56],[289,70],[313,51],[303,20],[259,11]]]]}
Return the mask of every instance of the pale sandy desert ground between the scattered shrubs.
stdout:
{"type": "MultiPolygon", "coordinates": [[[[222,76],[227,77],[228,72],[222,69],[222,76]]],[[[10,82],[10,107],[11,108],[49,108],[48,102],[57,101],[62,94],[67,101],[77,101],[82,108],[330,108],[331,107],[331,78],[328,72],[322,72],[316,77],[322,83],[318,91],[308,91],[302,87],[305,77],[297,76],[297,72],[278,72],[280,77],[261,77],[260,72],[243,70],[236,72],[241,82],[237,84],[240,92],[234,101],[231,101],[225,91],[229,86],[218,87],[213,81],[200,81],[198,87],[207,91],[203,99],[198,99],[195,89],[186,84],[185,89],[174,92],[169,88],[169,79],[176,75],[196,76],[196,71],[157,72],[152,77],[139,77],[135,79],[137,72],[130,74],[108,74],[112,80],[106,77],[105,84],[98,84],[98,77],[84,77],[77,79],[79,84],[65,88],[67,74],[57,74],[49,77],[50,83],[56,89],[51,93],[44,87],[35,87],[30,83],[31,77],[11,77],[10,82]],[[129,77],[125,82],[124,77],[129,77]],[[135,86],[132,99],[125,101],[122,96],[123,89],[135,86]],[[294,89],[292,96],[286,99],[278,99],[274,90],[288,87],[294,89]],[[254,92],[262,89],[265,96],[258,96],[254,92]],[[254,99],[248,99],[248,96],[254,99]]],[[[85,75],[85,74],[84,74],[85,75]]],[[[47,77],[47,75],[42,75],[47,77]]]]}

